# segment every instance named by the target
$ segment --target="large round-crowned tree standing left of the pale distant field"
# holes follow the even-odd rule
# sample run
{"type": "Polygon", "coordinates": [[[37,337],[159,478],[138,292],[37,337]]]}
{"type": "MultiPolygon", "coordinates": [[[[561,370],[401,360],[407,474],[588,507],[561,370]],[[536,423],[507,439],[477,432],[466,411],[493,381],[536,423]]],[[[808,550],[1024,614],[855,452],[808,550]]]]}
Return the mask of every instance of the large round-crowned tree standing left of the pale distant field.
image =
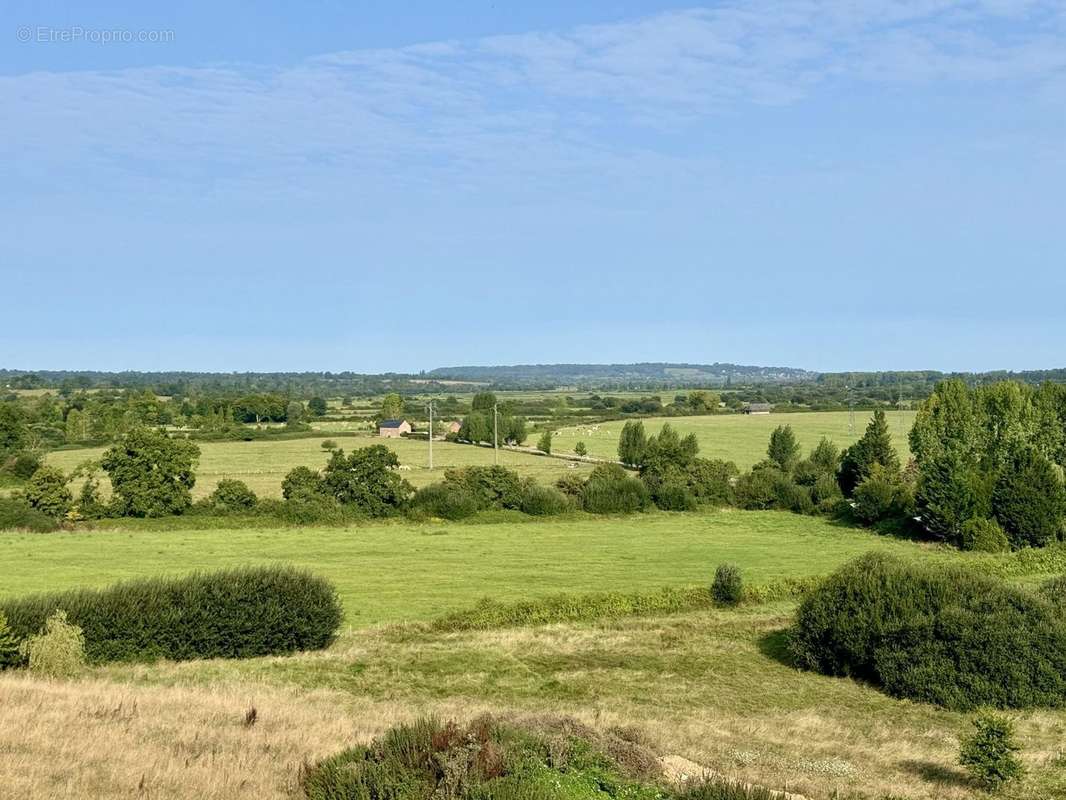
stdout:
{"type": "Polygon", "coordinates": [[[138,428],[103,453],[112,505],[120,516],[180,514],[192,503],[199,448],[161,431],[138,428]]]}

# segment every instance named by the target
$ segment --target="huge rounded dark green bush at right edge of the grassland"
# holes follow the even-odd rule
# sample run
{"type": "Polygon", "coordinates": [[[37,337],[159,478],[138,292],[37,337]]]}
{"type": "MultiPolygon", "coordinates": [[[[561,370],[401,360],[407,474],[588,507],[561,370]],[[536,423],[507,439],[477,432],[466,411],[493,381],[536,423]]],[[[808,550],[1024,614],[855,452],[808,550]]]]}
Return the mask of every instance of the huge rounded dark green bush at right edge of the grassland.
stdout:
{"type": "Polygon", "coordinates": [[[948,708],[1066,704],[1066,623],[1021,589],[959,567],[863,556],[800,606],[801,667],[948,708]]]}

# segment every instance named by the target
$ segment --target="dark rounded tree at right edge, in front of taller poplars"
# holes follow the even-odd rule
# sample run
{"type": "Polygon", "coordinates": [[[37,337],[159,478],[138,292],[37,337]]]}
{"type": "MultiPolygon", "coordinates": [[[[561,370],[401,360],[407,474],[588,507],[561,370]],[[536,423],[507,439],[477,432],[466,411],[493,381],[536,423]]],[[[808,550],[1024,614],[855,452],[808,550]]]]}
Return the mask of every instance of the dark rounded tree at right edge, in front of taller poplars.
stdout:
{"type": "Polygon", "coordinates": [[[1057,539],[1066,492],[1051,462],[1035,449],[1017,453],[996,481],[992,513],[1015,547],[1043,547],[1057,539]]]}

